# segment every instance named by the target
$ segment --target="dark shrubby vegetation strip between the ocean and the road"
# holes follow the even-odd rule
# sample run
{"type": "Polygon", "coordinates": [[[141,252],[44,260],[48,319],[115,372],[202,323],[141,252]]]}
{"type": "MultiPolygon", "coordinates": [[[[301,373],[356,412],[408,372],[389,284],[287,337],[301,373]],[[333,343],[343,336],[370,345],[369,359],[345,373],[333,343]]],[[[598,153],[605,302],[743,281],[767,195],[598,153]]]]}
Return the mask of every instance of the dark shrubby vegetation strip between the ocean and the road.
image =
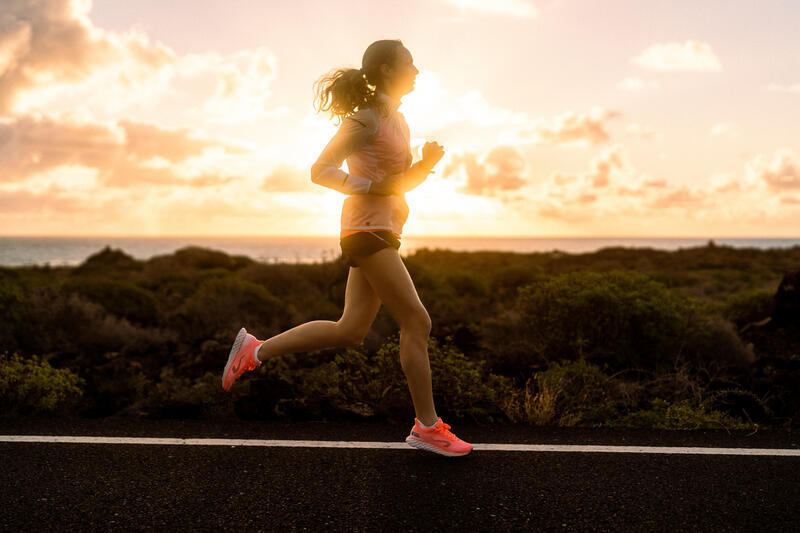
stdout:
{"type": "MultiPolygon", "coordinates": [[[[800,421],[800,247],[418,250],[448,418],[658,428],[800,421]]],[[[338,320],[347,268],[188,247],[137,261],[0,268],[5,415],[413,417],[385,307],[358,347],[288,354],[220,379],[242,326],[265,339],[338,320]]]]}

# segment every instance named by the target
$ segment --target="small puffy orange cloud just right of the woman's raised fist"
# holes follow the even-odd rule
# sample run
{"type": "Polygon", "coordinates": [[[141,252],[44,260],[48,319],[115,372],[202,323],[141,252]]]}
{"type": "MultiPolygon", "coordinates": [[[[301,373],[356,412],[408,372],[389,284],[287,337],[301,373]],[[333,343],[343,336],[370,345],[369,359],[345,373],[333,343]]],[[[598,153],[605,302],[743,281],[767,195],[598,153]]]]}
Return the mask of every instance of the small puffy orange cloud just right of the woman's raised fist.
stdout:
{"type": "Polygon", "coordinates": [[[480,161],[472,152],[456,154],[442,171],[447,178],[463,169],[466,184],[456,192],[495,196],[514,191],[526,184],[521,177],[526,167],[522,154],[513,146],[495,146],[480,161]]]}

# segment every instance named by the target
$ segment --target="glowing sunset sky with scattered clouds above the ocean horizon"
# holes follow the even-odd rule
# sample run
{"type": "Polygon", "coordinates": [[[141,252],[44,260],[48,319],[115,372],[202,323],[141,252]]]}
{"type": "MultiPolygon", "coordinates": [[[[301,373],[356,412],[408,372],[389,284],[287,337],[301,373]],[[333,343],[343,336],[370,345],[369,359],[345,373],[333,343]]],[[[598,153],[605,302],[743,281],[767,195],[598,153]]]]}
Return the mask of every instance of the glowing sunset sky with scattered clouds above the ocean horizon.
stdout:
{"type": "MultiPolygon", "coordinates": [[[[404,235],[800,236],[800,2],[2,0],[0,235],[330,235],[312,84],[400,39],[404,235]]],[[[346,167],[345,167],[346,168],[346,167]]]]}

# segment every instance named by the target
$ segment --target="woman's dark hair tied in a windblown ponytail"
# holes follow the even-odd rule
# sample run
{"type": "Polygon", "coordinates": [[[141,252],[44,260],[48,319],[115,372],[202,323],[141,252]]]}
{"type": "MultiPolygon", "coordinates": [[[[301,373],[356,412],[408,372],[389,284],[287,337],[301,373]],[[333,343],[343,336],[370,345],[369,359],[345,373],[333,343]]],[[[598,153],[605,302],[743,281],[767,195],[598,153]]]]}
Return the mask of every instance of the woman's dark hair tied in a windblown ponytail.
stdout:
{"type": "Polygon", "coordinates": [[[341,121],[356,108],[372,105],[375,90],[383,86],[380,67],[394,64],[400,46],[400,39],[375,41],[364,52],[360,69],[336,69],[320,76],[314,82],[314,108],[318,112],[330,110],[331,118],[339,117],[341,121]]]}

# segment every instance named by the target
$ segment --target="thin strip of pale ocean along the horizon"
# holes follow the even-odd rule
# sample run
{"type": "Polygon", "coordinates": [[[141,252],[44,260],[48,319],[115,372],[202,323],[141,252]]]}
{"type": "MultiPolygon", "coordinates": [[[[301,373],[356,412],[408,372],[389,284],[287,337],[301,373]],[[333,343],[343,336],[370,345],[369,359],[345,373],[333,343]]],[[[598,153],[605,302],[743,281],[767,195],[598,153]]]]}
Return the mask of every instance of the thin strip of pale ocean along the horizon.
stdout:
{"type": "MultiPolygon", "coordinates": [[[[419,248],[454,251],[594,252],[606,247],[678,250],[706,246],[788,248],[800,238],[669,238],[669,237],[414,237],[404,235],[400,255],[419,248]]],[[[339,238],[321,237],[0,237],[0,266],[76,266],[106,246],[135,259],[171,254],[186,246],[200,246],[230,255],[246,255],[265,263],[318,263],[339,256],[339,238]]]]}

